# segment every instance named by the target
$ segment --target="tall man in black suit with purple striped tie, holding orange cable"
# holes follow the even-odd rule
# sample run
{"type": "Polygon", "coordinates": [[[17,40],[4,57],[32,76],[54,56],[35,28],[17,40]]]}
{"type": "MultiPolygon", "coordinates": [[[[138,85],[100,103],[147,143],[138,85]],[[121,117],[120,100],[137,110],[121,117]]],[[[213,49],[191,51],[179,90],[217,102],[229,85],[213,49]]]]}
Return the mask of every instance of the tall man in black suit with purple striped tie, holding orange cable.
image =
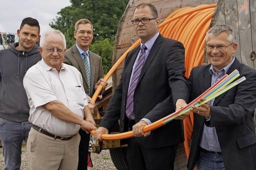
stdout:
{"type": "Polygon", "coordinates": [[[173,113],[175,106],[178,110],[186,105],[184,47],[159,34],[160,19],[152,4],[137,6],[132,23],[141,44],[128,53],[120,84],[95,136],[101,140],[101,134],[108,133],[119,119],[120,132],[132,130],[135,136],[128,140],[129,168],[170,170],[177,145],[184,141],[182,121],[174,120],[151,134],[142,128],[173,113]]]}

